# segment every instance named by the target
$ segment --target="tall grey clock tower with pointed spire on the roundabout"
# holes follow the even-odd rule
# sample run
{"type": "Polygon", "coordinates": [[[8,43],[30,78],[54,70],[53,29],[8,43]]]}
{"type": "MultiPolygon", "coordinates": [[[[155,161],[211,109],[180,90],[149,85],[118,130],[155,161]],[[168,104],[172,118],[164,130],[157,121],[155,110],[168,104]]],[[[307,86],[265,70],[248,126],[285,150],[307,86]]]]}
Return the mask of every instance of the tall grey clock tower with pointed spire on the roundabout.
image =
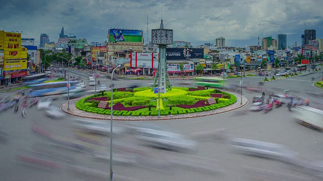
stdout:
{"type": "Polygon", "coordinates": [[[166,93],[166,88],[172,89],[166,68],[166,47],[173,44],[173,30],[164,29],[163,20],[160,22],[159,29],[151,30],[151,43],[159,48],[158,71],[156,73],[153,88],[158,85],[161,93],[166,93]],[[158,81],[158,84],[157,84],[158,81]]]}

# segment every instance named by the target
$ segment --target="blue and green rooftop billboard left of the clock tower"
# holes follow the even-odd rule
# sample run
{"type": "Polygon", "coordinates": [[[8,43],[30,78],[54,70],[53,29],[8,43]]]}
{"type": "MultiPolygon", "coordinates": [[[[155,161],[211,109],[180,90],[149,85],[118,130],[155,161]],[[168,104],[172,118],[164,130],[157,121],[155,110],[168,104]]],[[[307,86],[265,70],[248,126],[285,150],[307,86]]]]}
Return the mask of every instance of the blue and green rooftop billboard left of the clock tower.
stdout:
{"type": "Polygon", "coordinates": [[[109,29],[110,42],[142,42],[142,30],[109,29]]]}

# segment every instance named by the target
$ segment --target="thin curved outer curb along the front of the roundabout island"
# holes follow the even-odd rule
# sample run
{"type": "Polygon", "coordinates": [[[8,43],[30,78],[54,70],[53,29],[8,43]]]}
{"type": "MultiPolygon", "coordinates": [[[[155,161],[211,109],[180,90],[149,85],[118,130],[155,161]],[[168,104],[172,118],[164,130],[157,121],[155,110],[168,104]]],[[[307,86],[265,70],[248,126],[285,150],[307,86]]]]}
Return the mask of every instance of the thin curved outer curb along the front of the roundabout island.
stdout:
{"type": "MultiPolygon", "coordinates": [[[[189,115],[189,114],[183,114],[182,117],[178,117],[178,118],[172,118],[171,117],[171,118],[146,118],[146,119],[143,119],[143,118],[139,118],[139,117],[134,117],[133,119],[130,119],[130,118],[129,119],[113,118],[113,120],[114,121],[166,121],[166,120],[180,120],[180,119],[189,119],[189,118],[198,118],[198,117],[206,117],[206,116],[218,115],[218,114],[227,113],[227,112],[234,111],[234,110],[237,110],[237,109],[240,109],[240,108],[245,107],[249,103],[249,101],[244,96],[242,96],[242,97],[243,97],[243,99],[246,100],[246,102],[244,104],[239,105],[239,106],[237,106],[237,107],[235,107],[233,109],[226,110],[226,111],[221,111],[221,112],[218,112],[218,113],[208,113],[208,114],[195,115],[195,116],[184,116],[184,115],[189,115]]],[[[97,117],[91,117],[91,116],[84,116],[84,115],[74,114],[72,112],[69,112],[67,110],[62,109],[63,105],[60,107],[61,111],[63,113],[65,113],[65,114],[67,114],[67,115],[70,115],[70,116],[74,116],[74,117],[78,117],[78,118],[86,118],[86,119],[95,119],[95,120],[110,120],[111,119],[111,118],[97,118],[97,117]]]]}

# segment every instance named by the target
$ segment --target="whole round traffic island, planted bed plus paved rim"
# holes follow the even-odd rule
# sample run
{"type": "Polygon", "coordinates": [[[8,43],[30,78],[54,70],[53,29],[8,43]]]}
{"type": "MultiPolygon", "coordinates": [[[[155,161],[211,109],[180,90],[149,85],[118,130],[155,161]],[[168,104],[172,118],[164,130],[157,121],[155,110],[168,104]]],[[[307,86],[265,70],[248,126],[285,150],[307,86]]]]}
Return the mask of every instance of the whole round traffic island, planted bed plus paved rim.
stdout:
{"type": "MultiPolygon", "coordinates": [[[[158,94],[154,94],[151,87],[113,91],[113,120],[116,121],[175,120],[210,116],[239,109],[248,103],[242,97],[243,104],[239,104],[240,96],[218,89],[173,87],[171,91],[159,96],[161,117],[158,118],[158,94]]],[[[67,103],[62,105],[61,110],[75,117],[110,120],[110,98],[111,92],[101,92],[71,100],[70,110],[67,110],[67,103]]]]}

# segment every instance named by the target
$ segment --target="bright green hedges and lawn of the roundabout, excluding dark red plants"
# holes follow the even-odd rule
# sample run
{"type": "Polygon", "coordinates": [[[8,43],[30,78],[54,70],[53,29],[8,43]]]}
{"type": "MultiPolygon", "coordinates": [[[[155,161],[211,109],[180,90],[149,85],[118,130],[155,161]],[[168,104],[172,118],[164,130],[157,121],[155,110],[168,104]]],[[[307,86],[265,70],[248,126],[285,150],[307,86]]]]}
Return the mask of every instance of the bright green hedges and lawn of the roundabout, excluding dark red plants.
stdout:
{"type": "MultiPolygon", "coordinates": [[[[104,96],[106,96],[107,99],[110,99],[111,93],[105,92],[104,96]]],[[[86,98],[82,98],[76,102],[76,108],[86,112],[102,114],[102,115],[110,115],[111,114],[110,110],[96,108],[99,103],[98,100],[91,100],[86,102],[89,98],[96,98],[96,97],[102,97],[102,95],[96,94],[86,98]]],[[[124,103],[125,106],[142,106],[142,105],[151,104],[151,101],[153,100],[155,100],[154,102],[156,103],[158,100],[158,94],[154,94],[154,92],[151,91],[151,87],[138,87],[137,89],[134,89],[134,93],[114,92],[113,98],[114,98],[113,100],[114,104],[124,103]]],[[[218,89],[206,89],[202,91],[188,92],[187,87],[176,87],[176,88],[173,87],[171,91],[167,91],[165,94],[160,94],[160,99],[161,99],[160,115],[162,116],[210,111],[214,109],[223,108],[237,102],[237,98],[234,95],[221,92],[218,89]],[[176,107],[178,108],[177,110],[174,110],[174,109],[167,110],[166,107],[168,106],[163,105],[163,99],[168,99],[168,103],[172,105],[180,105],[180,104],[193,105],[195,104],[195,101],[201,101],[201,100],[206,101],[206,99],[210,98],[211,93],[223,94],[222,98],[214,98],[217,104],[207,105],[207,106],[198,107],[198,108],[190,108],[190,109],[176,107]]],[[[108,101],[108,103],[110,105],[111,101],[108,101]]],[[[168,109],[170,108],[168,107],[168,109]]],[[[157,116],[158,115],[157,110],[158,110],[157,106],[155,108],[151,108],[151,111],[148,111],[148,108],[140,109],[137,111],[113,110],[113,115],[115,116],[157,116]]]]}

